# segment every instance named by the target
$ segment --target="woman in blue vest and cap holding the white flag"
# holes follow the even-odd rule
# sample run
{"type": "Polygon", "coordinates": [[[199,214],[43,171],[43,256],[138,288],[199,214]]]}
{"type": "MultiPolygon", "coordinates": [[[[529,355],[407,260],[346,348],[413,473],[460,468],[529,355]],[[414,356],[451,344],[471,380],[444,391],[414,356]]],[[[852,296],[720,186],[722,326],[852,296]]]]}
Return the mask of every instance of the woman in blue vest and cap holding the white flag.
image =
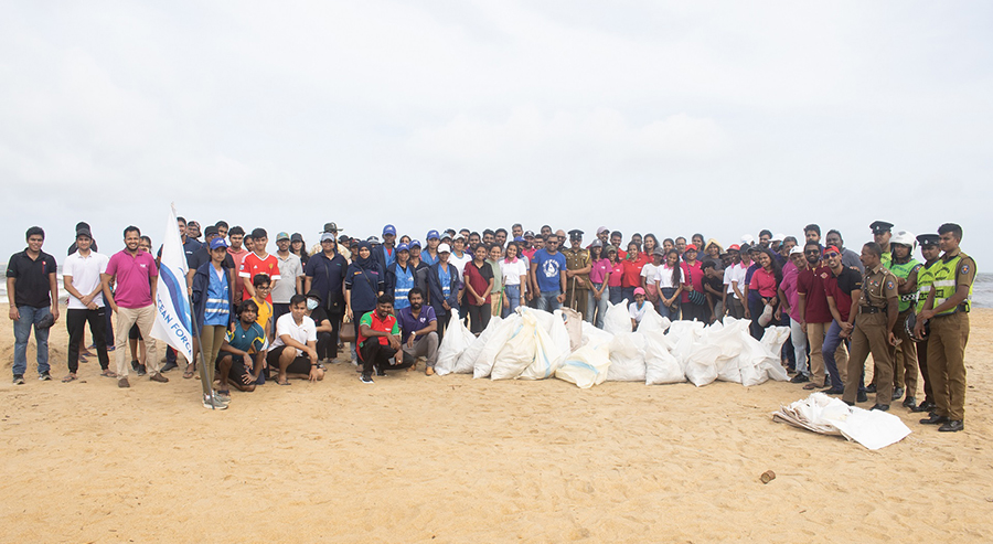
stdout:
{"type": "MultiPolygon", "coordinates": [[[[193,334],[203,346],[204,372],[214,367],[227,326],[231,323],[231,285],[227,270],[221,264],[227,256],[227,242],[222,237],[211,241],[211,260],[204,263],[193,275],[193,334]]],[[[194,353],[195,356],[195,353],[194,353]]],[[[193,364],[186,365],[183,377],[193,377],[193,364]]]]}

